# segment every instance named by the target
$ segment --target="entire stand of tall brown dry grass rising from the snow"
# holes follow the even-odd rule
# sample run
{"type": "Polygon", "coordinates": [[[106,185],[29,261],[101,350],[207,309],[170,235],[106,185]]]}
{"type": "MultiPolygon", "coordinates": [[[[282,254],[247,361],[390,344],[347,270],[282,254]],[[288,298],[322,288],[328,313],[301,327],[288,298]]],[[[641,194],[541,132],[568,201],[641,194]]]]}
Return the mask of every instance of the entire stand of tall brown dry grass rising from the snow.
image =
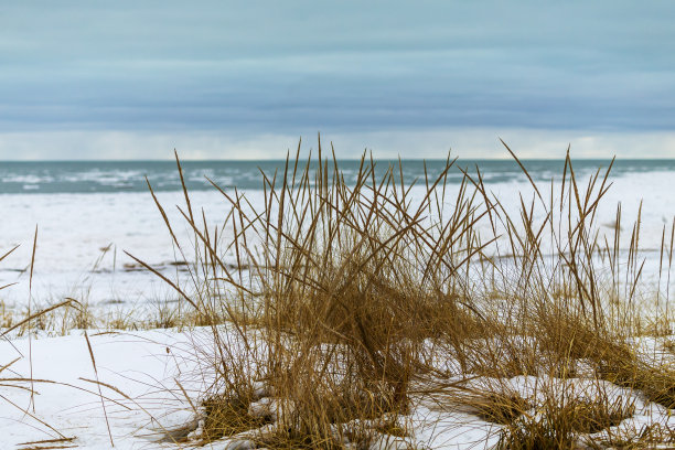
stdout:
{"type": "MultiPolygon", "coordinates": [[[[533,182],[532,201],[521,197],[514,214],[480,171],[465,172],[450,197],[456,161],[414,191],[400,161],[376,170],[364,157],[347,185],[321,147],[315,161],[302,164],[299,154],[283,173],[262,174],[261,210],[215,186],[232,207],[228,240],[192,210],[184,189],[180,210],[199,262],[190,293],[172,286],[212,328],[217,355],[218,376],[202,403],[210,430],[203,441],[249,430],[268,448],[365,446],[378,432],[406,433],[392,424],[410,411],[411,386],[458,373],[566,381],[579,376],[581,362],[593,377],[675,406],[675,371],[645,362],[629,342],[641,323],[633,307],[639,227],[624,264],[622,227],[604,240],[596,232],[611,164],[582,186],[568,158],[559,192],[551,184],[542,194],[533,182]],[[488,238],[481,224],[489,224],[488,238]],[[217,325],[223,320],[227,331],[217,325]],[[459,371],[439,368],[439,358],[459,371]],[[251,416],[257,381],[274,393],[262,398],[274,407],[251,416]],[[394,419],[383,427],[383,417],[394,419]]],[[[157,205],[185,256],[189,247],[157,205]]],[[[672,261],[672,246],[665,255],[672,261]]],[[[633,413],[607,396],[566,394],[548,396],[534,415],[536,405],[517,393],[479,390],[449,401],[501,424],[504,449],[571,448],[579,435],[633,413]]]]}

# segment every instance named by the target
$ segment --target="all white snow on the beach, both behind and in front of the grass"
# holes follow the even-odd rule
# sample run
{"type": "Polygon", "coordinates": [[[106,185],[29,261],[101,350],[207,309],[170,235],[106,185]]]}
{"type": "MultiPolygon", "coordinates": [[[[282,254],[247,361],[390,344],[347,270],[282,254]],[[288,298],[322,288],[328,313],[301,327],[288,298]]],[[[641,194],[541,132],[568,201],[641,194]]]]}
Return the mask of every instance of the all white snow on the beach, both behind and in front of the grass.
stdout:
{"type": "MultiPolygon", "coordinates": [[[[586,168],[578,171],[577,176],[586,182],[590,174],[591,169],[586,168]]],[[[597,217],[600,229],[613,232],[617,205],[621,203],[622,239],[625,239],[622,245],[626,249],[631,224],[641,210],[640,247],[644,251],[640,257],[645,258],[644,278],[652,286],[658,280],[660,267],[662,278],[668,275],[667,270],[663,272],[660,248],[663,231],[667,237],[675,213],[675,195],[671,193],[673,175],[674,170],[658,168],[610,175],[613,185],[597,217]]],[[[510,213],[517,212],[521,193],[525,199],[531,197],[527,179],[514,175],[494,179],[485,182],[486,189],[510,213]]],[[[555,192],[559,180],[554,185],[555,192]]],[[[449,204],[458,186],[449,184],[449,204]]],[[[549,185],[544,182],[540,186],[548,189],[549,185]]],[[[243,193],[254,207],[264,207],[261,190],[246,189],[243,193]]],[[[422,186],[414,188],[410,195],[420,199],[422,186]]],[[[183,193],[175,189],[164,190],[158,192],[157,197],[176,235],[190,242],[193,238],[191,229],[174,207],[184,204],[183,193]]],[[[0,291],[8,311],[21,313],[29,303],[35,311],[74,298],[90,306],[93,314],[98,317],[118,310],[142,318],[157,304],[178,297],[167,282],[142,270],[125,250],[181,286],[189,281],[182,264],[191,255],[180,254],[172,245],[150,192],[6,193],[0,195],[0,202],[8,217],[3,221],[0,248],[7,250],[21,245],[0,267],[0,285],[17,283],[0,291]],[[38,244],[30,286],[35,225],[38,244]]],[[[200,214],[204,211],[210,224],[218,225],[228,210],[223,195],[215,189],[192,191],[191,205],[200,214]]],[[[488,223],[479,226],[489,233],[488,223]]],[[[223,229],[232,232],[228,227],[223,229]]],[[[226,257],[231,258],[228,264],[236,264],[234,255],[226,257]]],[[[669,289],[673,298],[673,287],[669,289]]],[[[208,331],[200,328],[130,331],[101,325],[104,329],[87,330],[92,354],[85,330],[66,330],[65,335],[57,335],[55,330],[41,330],[30,339],[26,334],[17,339],[12,334],[3,336],[0,363],[8,364],[0,374],[8,379],[7,386],[0,386],[3,444],[22,449],[49,444],[107,449],[113,443],[120,449],[176,447],[162,437],[167,430],[191,425],[197,416],[194,408],[210,383],[212,368],[204,364],[197,349],[213,346],[208,331]]],[[[668,339],[647,340],[645,345],[653,353],[668,339]]],[[[650,354],[649,349],[645,354],[650,354]]],[[[540,388],[537,383],[545,384],[537,379],[518,376],[500,383],[502,387],[508,384],[513,390],[529,398],[537,396],[540,388]]],[[[493,382],[481,376],[471,383],[490,385],[493,382]]],[[[579,392],[598,388],[592,376],[579,375],[570,383],[578,384],[579,392]]],[[[615,385],[608,384],[606,388],[610,396],[629,398],[635,407],[636,413],[622,422],[622,427],[640,428],[652,422],[675,426],[668,410],[657,404],[615,385]]],[[[414,405],[406,420],[415,435],[396,444],[385,442],[374,448],[488,448],[497,441],[500,428],[475,414],[439,409],[437,404],[424,397],[416,398],[414,405]]],[[[237,444],[246,448],[242,440],[210,443],[215,449],[232,449],[237,444]]]]}

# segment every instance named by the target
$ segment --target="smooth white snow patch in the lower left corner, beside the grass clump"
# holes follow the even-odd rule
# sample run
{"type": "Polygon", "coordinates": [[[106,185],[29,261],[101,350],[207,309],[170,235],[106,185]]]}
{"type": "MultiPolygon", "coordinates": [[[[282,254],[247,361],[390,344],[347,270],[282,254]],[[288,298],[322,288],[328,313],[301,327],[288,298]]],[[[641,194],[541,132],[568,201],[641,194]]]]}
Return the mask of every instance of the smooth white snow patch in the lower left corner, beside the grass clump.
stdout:
{"type": "Polygon", "coordinates": [[[185,345],[188,334],[106,333],[92,334],[89,340],[106,398],[105,414],[82,332],[0,343],[3,365],[20,357],[0,373],[2,379],[12,379],[0,382],[2,448],[66,437],[75,438],[73,444],[78,448],[109,449],[106,414],[115,448],[152,448],[162,428],[194,419],[176,385],[182,379],[186,392],[199,387],[199,381],[191,378],[195,363],[185,345]],[[44,382],[31,386],[17,381],[30,378],[31,373],[33,379],[44,382]]]}

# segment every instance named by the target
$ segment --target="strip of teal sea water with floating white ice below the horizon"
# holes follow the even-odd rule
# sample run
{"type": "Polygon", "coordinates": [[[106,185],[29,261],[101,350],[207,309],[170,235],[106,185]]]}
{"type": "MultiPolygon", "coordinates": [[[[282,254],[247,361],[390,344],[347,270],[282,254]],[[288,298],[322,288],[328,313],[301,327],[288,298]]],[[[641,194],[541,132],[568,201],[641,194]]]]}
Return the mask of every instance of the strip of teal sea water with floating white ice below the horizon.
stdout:
{"type": "MultiPolygon", "coordinates": [[[[426,161],[428,173],[438,174],[446,161],[426,161]]],[[[560,176],[561,160],[524,160],[531,175],[538,181],[560,176]]],[[[609,160],[578,160],[574,162],[576,172],[587,173],[598,168],[607,168],[609,160]]],[[[212,189],[208,180],[222,188],[236,186],[242,190],[261,189],[260,171],[270,178],[275,171],[283,171],[285,161],[184,161],[182,162],[185,183],[191,191],[212,189]]],[[[377,161],[382,174],[397,161],[377,161]]],[[[459,168],[475,171],[478,165],[488,182],[523,181],[524,175],[513,160],[459,160],[457,169],[450,172],[449,182],[460,182],[459,168]]],[[[358,161],[340,161],[340,170],[347,182],[354,181],[358,161]]],[[[667,171],[675,173],[675,159],[668,160],[618,160],[614,162],[614,178],[631,173],[667,171]]],[[[398,169],[397,169],[398,172],[398,169]]],[[[425,162],[404,160],[404,179],[409,184],[425,175],[425,162]]],[[[176,191],[180,189],[176,164],[172,161],[31,161],[0,162],[0,193],[113,193],[144,192],[148,190],[146,176],[156,191],[176,191]]],[[[675,181],[674,181],[675,185],[675,181]]]]}

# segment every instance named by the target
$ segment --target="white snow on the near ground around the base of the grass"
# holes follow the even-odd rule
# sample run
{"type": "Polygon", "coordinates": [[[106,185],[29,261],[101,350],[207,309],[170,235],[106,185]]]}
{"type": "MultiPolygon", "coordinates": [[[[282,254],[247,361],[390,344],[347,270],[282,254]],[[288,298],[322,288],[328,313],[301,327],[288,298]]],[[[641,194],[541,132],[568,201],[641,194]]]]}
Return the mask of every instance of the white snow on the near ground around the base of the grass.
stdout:
{"type": "MultiPolygon", "coordinates": [[[[96,372],[82,331],[67,336],[0,343],[3,365],[19,358],[0,373],[2,448],[65,437],[74,438],[72,444],[77,448],[109,449],[106,415],[116,449],[179,448],[160,440],[167,430],[186,425],[197,429],[193,436],[199,435],[197,415],[192,405],[199,405],[199,393],[204,392],[210,381],[208,367],[201,355],[210,344],[208,330],[92,333],[89,341],[96,372]],[[31,373],[33,386],[28,381],[31,373]],[[100,385],[95,383],[96,376],[100,385]],[[105,398],[105,411],[98,386],[105,398]]],[[[251,414],[268,415],[276,410],[279,399],[272,398],[264,385],[258,383],[255,387],[261,398],[250,405],[251,414]]],[[[464,390],[479,387],[482,392],[518,393],[533,405],[543,401],[547,389],[565,389],[583,398],[603,395],[610,403],[623,399],[635,406],[634,416],[619,428],[640,429],[644,424],[654,422],[675,427],[675,417],[649,403],[639,392],[591,377],[566,381],[546,376],[475,377],[463,384],[464,390]]],[[[490,448],[499,440],[500,426],[451,403],[424,396],[415,399],[411,414],[403,420],[414,431],[413,437],[382,435],[371,448],[415,444],[416,448],[474,449],[490,448]]],[[[249,444],[243,435],[206,448],[244,449],[250,448],[249,444]]]]}

